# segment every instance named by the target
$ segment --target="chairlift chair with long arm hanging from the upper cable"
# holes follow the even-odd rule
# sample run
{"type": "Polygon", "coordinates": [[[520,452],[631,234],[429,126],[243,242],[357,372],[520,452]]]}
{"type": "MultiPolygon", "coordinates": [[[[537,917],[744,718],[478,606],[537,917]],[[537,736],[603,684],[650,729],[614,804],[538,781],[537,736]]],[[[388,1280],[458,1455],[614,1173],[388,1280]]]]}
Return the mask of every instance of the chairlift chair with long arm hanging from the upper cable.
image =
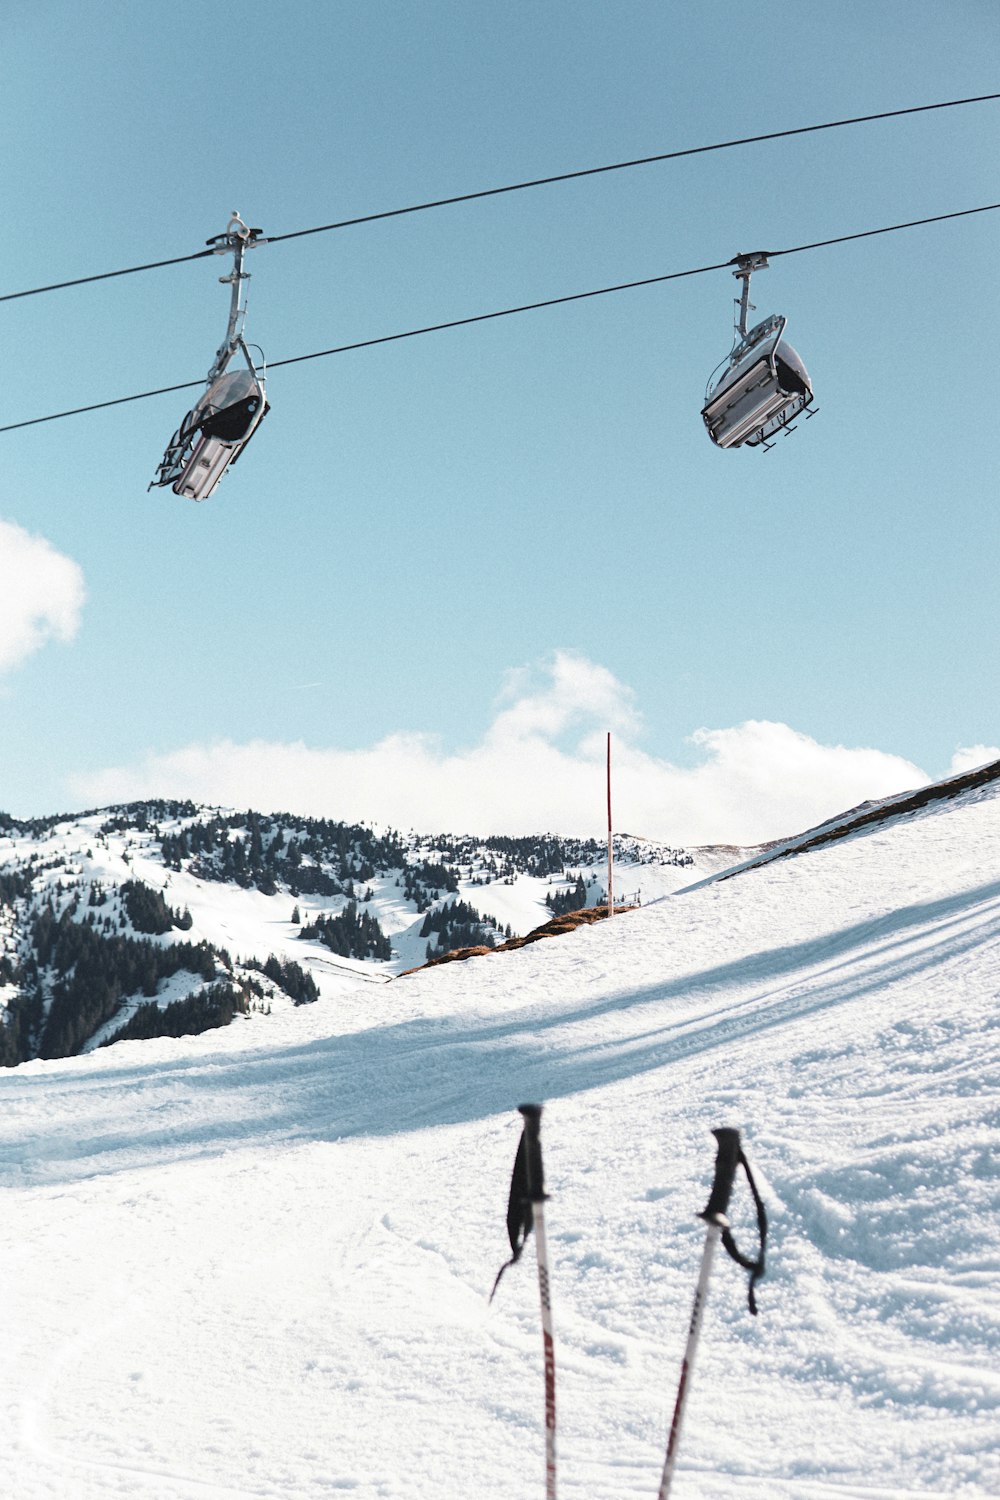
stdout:
{"type": "Polygon", "coordinates": [[[219,278],[223,285],[232,285],[229,324],[208,370],[207,388],[171,438],[150,489],[169,484],[175,495],[207,500],[270,410],[264,358],[261,357],[259,366],[250,358],[243,339],[246,303],[240,304],[240,284],[249,279],[249,273],[243,270],[243,256],[259,232],[249,230],[240,214],[234,213],[226,232],[207,242],[216,254],[235,255],[231,274],[219,278]],[[243,354],[246,369],[231,370],[228,364],[237,352],[243,354]]]}

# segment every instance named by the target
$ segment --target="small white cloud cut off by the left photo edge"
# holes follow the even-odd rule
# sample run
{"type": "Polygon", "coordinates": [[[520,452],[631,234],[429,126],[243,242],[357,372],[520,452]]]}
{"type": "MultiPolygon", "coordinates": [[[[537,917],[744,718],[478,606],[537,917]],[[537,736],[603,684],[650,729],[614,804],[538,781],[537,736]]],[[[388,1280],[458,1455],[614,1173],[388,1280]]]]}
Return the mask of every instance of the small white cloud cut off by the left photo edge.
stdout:
{"type": "Polygon", "coordinates": [[[84,574],[45,537],[0,520],[0,672],[46,640],[72,640],[84,604],[84,574]]]}

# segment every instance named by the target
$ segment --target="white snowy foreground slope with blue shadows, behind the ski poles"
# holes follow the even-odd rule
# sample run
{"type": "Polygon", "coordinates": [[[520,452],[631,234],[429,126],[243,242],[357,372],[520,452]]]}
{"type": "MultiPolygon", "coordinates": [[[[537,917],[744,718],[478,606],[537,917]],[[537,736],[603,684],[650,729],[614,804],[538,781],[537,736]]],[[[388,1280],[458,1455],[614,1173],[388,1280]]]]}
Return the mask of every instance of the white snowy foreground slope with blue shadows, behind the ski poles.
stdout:
{"type": "MultiPolygon", "coordinates": [[[[543,1101],[559,1492],[655,1497],[712,1176],[676,1500],[1000,1494],[993,783],[516,952],[0,1074],[18,1500],[544,1494],[543,1101]],[[738,1185],[732,1218],[753,1246],[738,1185]]],[[[174,898],[177,898],[174,894],[174,898]]],[[[235,934],[234,934],[235,936],[235,934]]]]}

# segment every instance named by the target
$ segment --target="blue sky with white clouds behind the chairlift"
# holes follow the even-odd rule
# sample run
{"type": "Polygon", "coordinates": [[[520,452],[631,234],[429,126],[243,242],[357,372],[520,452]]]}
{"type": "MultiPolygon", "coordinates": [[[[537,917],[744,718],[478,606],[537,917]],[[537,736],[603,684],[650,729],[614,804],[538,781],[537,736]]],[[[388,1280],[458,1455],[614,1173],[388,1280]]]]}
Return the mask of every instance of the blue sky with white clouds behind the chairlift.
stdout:
{"type": "MultiPolygon", "coordinates": [[[[990,93],[1000,12],[36,0],[0,44],[18,291],[190,254],[232,208],[285,234],[990,93]]],[[[999,144],[984,104],[261,248],[247,336],[276,362],[994,202],[999,144]]],[[[999,230],[756,278],[820,408],[768,454],[699,417],[726,272],[276,369],[202,506],[145,490],[183,394],[0,435],[0,806],[253,792],[585,831],[612,729],[631,831],[691,842],[994,747],[999,230]]],[[[3,420],[202,378],[225,268],[0,304],[3,420]]]]}

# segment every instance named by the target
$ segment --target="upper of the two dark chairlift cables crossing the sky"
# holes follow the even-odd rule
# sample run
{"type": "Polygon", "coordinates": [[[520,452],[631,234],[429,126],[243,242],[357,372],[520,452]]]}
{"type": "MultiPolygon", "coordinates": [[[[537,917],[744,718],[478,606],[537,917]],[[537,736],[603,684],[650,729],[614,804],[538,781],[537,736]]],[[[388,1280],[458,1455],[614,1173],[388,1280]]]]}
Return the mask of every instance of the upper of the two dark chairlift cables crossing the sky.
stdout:
{"type": "MultiPolygon", "coordinates": [[[[903,110],[880,110],[876,114],[856,114],[843,120],[825,120],[819,124],[798,124],[784,130],[765,130],[760,135],[741,135],[727,141],[714,141],[709,146],[687,146],[675,152],[658,152],[652,156],[636,156],[624,162],[609,162],[603,166],[583,166],[570,172],[555,172],[549,177],[531,177],[525,182],[507,183],[501,188],[481,188],[477,192],[454,194],[448,198],[432,198],[426,202],[408,204],[402,208],[382,208],[378,213],[364,213],[352,219],[337,219],[333,224],[318,224],[309,230],[291,230],[286,234],[259,236],[256,244],[280,244],[285,240],[300,240],[310,234],[328,234],[333,230],[349,230],[363,224],[378,224],[385,219],[399,219],[409,213],[426,213],[432,208],[447,208],[462,202],[474,202],[480,198],[499,198],[504,194],[523,192],[528,188],[550,188],[555,183],[574,182],[583,177],[598,177],[606,172],[628,171],[634,166],[651,166],[655,162],[673,162],[685,156],[703,156],[709,152],[729,152],[738,146],[757,146],[763,141],[781,141],[793,135],[811,135],[819,130],[838,130],[849,124],[871,124],[876,120],[895,120],[903,116],[930,114],[936,110],[957,110],[970,104],[988,104],[1000,99],[1000,93],[973,94],[967,99],[943,99],[939,104],[909,105],[903,110]]],[[[972,210],[975,212],[975,210],[972,210]]],[[[885,232],[885,231],[873,231],[885,232]]],[[[69,286],[85,286],[91,282],[112,280],[118,276],[135,276],[139,272],[160,270],[165,266],[183,266],[187,261],[199,261],[213,255],[211,249],[193,250],[190,255],[174,255],[162,261],[147,261],[142,266],[126,266],[114,272],[97,272],[93,276],[75,276],[70,280],[49,282],[45,286],[30,286],[25,291],[0,292],[0,302],[16,302],[21,297],[39,297],[49,291],[64,291],[69,286]]],[[[775,252],[787,254],[787,252],[775,252]]],[[[6,429],[0,429],[6,430],[6,429]]]]}

